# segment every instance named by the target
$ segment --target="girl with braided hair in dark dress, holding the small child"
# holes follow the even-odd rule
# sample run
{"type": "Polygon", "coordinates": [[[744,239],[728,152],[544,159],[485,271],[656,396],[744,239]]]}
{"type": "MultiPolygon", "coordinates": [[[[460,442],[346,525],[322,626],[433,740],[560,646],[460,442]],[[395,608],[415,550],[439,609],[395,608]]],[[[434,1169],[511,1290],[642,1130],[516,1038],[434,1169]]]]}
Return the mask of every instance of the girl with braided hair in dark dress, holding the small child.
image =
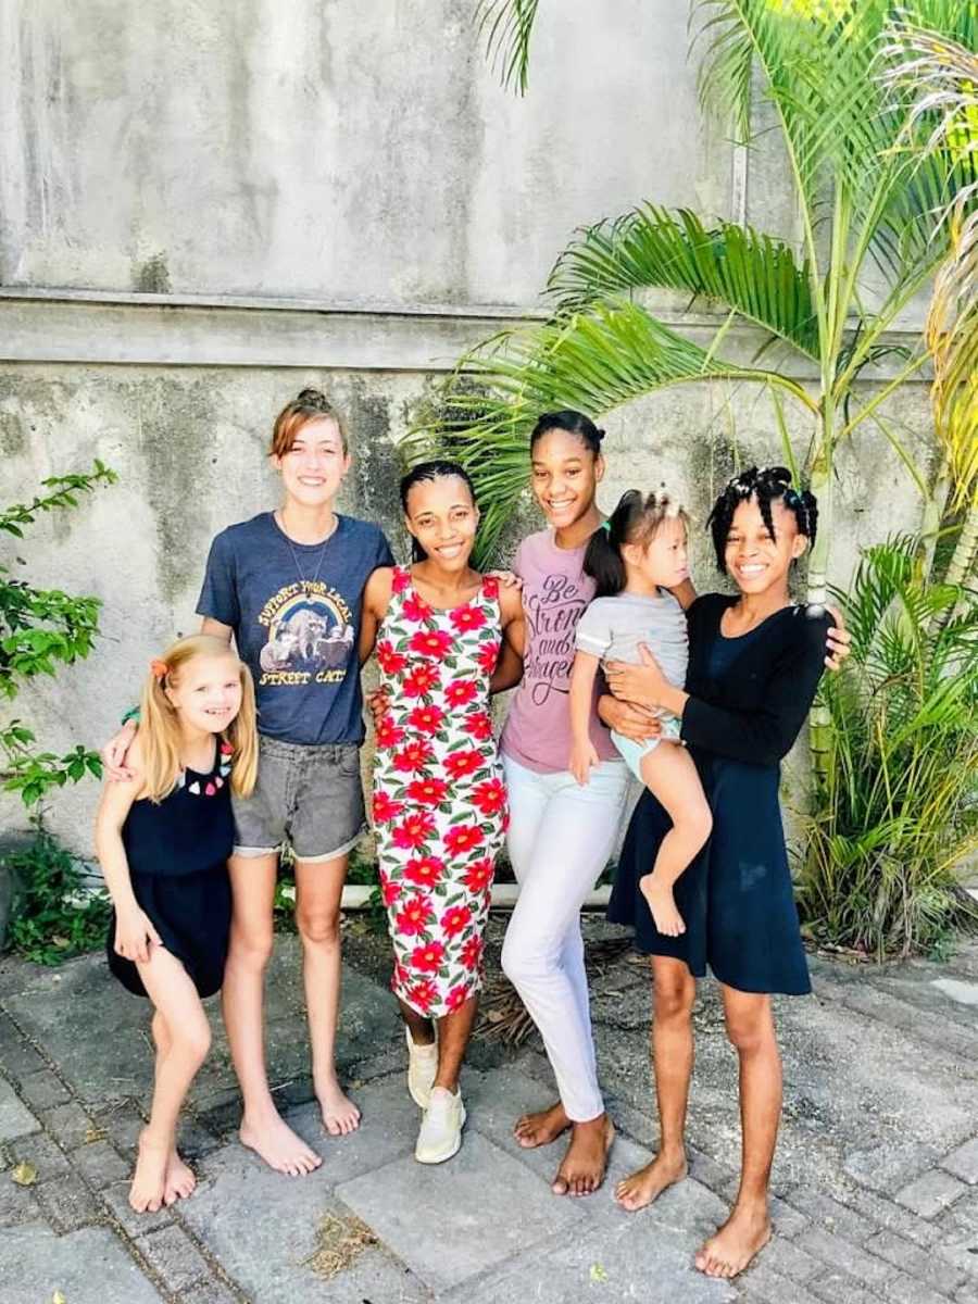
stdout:
{"type": "MultiPolygon", "coordinates": [[[[619,1184],[615,1197],[626,1209],[651,1204],[686,1176],[695,978],[709,965],[722,985],[741,1064],[743,1163],[729,1219],[696,1254],[709,1277],[735,1277],[771,1236],[768,1181],[781,1115],[771,994],[811,990],[777,794],[780,760],[811,707],[832,623],[822,608],[792,605],[788,592],[816,519],[814,497],[793,489],[784,468],[737,476],[709,524],[720,570],[739,595],[707,593],[690,606],[686,690],[674,689],[652,657],[608,668],[615,698],[682,719],[713,814],[711,841],[675,888],[685,934],[657,932],[638,887],[669,828],[648,792],[629,827],[609,908],[609,918],[632,925],[639,948],[652,955],[655,982],[660,1151],[619,1184]]],[[[610,721],[614,711],[608,715],[610,721]]]]}

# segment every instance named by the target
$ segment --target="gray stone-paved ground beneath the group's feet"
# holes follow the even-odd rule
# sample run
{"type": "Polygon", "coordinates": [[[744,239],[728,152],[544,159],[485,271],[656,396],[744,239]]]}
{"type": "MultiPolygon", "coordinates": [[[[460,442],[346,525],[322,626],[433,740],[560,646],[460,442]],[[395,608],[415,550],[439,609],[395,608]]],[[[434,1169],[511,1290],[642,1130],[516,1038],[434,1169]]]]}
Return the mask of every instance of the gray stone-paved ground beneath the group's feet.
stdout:
{"type": "MultiPolygon", "coordinates": [[[[198,1192],[147,1218],[125,1204],[149,1082],[145,1007],[108,979],[102,957],[56,971],[0,962],[4,1304],[51,1304],[57,1291],[67,1304],[978,1301],[978,945],[944,965],[883,970],[814,958],[815,996],[780,1004],[777,1234],[733,1286],[691,1269],[737,1168],[734,1061],[711,983],[696,1012],[692,1176],[627,1217],[608,1188],[554,1198],[556,1155],[510,1140],[514,1116],[550,1095],[532,1042],[519,1052],[473,1048],[460,1155],[439,1168],[413,1162],[417,1111],[383,956],[382,941],[353,930],[342,1060],[361,1131],[319,1136],[296,941],[284,936],[271,1063],[291,1121],[326,1162],[291,1180],[236,1145],[218,1037],[183,1137],[198,1192]],[[22,1161],[37,1170],[30,1187],[12,1180],[22,1161]]],[[[621,1129],[613,1179],[655,1138],[648,1004],[645,970],[627,956],[595,977],[599,1059],[621,1129]]]]}

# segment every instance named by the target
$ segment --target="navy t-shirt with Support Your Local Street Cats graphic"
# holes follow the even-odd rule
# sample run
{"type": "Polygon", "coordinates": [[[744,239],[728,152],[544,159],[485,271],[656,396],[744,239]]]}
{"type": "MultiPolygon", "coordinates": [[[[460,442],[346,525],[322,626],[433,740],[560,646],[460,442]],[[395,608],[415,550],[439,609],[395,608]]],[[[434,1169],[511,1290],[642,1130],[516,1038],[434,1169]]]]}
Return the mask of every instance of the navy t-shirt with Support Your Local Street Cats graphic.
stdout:
{"type": "Polygon", "coordinates": [[[377,526],[339,514],[325,544],[296,544],[270,511],[216,536],[197,613],[235,631],[254,678],[259,733],[309,746],[363,742],[364,585],[393,565],[377,526]]]}

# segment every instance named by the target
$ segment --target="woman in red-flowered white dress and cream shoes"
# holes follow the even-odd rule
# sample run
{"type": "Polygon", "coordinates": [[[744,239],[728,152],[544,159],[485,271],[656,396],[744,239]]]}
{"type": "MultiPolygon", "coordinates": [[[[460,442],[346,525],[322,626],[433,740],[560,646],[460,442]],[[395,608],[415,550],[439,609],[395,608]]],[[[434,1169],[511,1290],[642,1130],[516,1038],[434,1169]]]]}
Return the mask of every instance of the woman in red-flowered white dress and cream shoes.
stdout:
{"type": "Polygon", "coordinates": [[[482,932],[506,789],[489,717],[503,639],[522,653],[518,589],[473,571],[472,484],[451,462],[400,485],[415,565],[383,567],[364,593],[361,661],[377,649],[373,822],[394,943],[391,987],[407,1025],[408,1090],[425,1111],[421,1163],[450,1159],[466,1110],[459,1071],[482,983],[482,932]],[[437,1025],[437,1028],[436,1028],[437,1025]]]}

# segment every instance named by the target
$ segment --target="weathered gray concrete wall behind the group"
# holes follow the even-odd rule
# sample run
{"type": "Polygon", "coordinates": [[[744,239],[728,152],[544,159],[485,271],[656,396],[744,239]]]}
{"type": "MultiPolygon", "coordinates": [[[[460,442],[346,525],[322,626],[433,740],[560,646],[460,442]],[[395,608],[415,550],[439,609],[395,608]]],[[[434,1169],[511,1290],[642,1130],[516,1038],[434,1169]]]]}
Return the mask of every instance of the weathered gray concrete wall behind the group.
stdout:
{"type": "MultiPolygon", "coordinates": [[[[649,197],[790,231],[776,158],[747,160],[700,119],[681,0],[544,4],[526,100],[484,67],[473,9],[0,0],[0,502],[94,456],[120,475],[1,558],[104,601],[98,655],[16,704],[46,746],[100,742],[147,657],[194,626],[209,539],[274,502],[263,449],[301,385],[349,416],[342,506],[398,535],[412,406],[539,310],[576,226],[649,197]]],[[[672,310],[703,340],[716,326],[672,310]]],[[[927,466],[923,387],[891,415],[927,466]]],[[[780,460],[742,389],[669,391],[606,425],[609,507],[668,479],[702,519],[733,455],[780,460]]],[[[919,507],[878,436],[840,471],[844,579],[858,544],[919,507]]],[[[94,797],[52,803],[80,850],[94,797]]],[[[3,816],[22,822],[10,802],[3,816]]]]}

